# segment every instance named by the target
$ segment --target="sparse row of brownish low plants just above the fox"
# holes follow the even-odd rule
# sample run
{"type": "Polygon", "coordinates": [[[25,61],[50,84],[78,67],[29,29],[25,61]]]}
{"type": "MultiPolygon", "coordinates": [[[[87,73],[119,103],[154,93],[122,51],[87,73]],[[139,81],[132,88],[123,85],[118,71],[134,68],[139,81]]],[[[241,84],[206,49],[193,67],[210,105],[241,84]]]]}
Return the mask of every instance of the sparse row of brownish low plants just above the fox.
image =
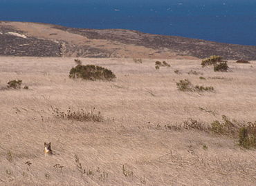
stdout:
{"type": "Polygon", "coordinates": [[[86,112],[84,109],[81,110],[71,110],[71,107],[66,110],[66,112],[61,111],[59,108],[53,109],[53,116],[56,118],[62,118],[67,120],[75,121],[93,121],[102,122],[103,116],[100,111],[95,112],[95,108],[91,112],[86,112]]]}

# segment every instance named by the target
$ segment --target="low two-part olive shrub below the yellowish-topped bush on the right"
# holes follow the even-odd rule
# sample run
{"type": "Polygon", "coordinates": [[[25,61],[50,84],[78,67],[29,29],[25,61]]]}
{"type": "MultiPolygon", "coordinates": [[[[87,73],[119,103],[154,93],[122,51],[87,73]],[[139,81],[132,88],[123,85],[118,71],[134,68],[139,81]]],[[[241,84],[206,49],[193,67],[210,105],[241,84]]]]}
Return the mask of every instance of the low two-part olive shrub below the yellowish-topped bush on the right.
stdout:
{"type": "Polygon", "coordinates": [[[214,87],[204,87],[203,85],[192,85],[192,83],[188,79],[180,80],[178,83],[176,83],[178,90],[180,91],[188,91],[188,92],[203,92],[208,91],[212,92],[214,91],[214,87]]]}

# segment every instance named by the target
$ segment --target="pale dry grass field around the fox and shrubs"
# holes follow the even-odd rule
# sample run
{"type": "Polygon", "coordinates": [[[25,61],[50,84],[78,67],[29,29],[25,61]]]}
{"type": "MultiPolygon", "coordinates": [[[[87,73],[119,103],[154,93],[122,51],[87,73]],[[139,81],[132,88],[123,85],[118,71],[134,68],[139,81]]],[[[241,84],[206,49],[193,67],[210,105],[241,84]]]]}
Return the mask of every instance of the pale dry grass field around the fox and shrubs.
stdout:
{"type": "Polygon", "coordinates": [[[81,60],[112,70],[116,80],[69,79],[73,58],[0,57],[0,185],[255,185],[255,149],[168,126],[188,118],[210,125],[223,114],[255,122],[256,61],[229,61],[232,72],[213,72],[201,60],[167,60],[171,67],[159,70],[152,59],[81,60]],[[28,90],[6,90],[12,79],[28,90]],[[181,92],[182,79],[214,92],[181,92]],[[56,107],[95,107],[104,121],[56,118],[56,107]],[[50,141],[55,155],[44,156],[50,141]]]}

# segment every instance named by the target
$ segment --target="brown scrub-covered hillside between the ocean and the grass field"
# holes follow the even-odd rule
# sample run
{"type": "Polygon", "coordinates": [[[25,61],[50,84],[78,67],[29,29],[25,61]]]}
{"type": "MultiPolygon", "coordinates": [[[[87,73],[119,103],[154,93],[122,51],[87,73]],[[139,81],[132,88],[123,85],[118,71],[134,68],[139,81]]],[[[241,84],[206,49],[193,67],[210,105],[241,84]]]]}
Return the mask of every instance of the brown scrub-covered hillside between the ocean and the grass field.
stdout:
{"type": "Polygon", "coordinates": [[[256,59],[256,46],[233,45],[134,30],[95,30],[25,22],[0,22],[1,56],[89,58],[256,59]]]}

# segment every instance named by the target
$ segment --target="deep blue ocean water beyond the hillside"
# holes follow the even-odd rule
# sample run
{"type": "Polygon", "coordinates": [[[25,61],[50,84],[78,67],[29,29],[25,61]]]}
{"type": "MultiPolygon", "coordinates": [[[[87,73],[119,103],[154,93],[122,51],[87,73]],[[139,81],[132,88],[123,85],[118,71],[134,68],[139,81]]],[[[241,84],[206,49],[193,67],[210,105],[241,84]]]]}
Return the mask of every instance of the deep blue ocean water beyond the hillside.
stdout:
{"type": "Polygon", "coordinates": [[[0,0],[0,20],[256,45],[256,0],[0,0]]]}

